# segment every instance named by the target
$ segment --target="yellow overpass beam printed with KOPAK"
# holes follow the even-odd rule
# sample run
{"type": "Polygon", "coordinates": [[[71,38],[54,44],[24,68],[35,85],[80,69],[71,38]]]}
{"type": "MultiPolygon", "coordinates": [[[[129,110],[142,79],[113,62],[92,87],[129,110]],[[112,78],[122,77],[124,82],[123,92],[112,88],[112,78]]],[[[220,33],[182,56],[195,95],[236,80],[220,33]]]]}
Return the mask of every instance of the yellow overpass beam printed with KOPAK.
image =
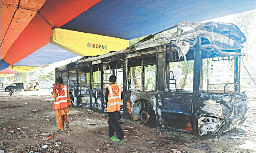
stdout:
{"type": "Polygon", "coordinates": [[[51,43],[80,56],[96,56],[129,46],[129,40],[55,28],[51,43]]]}

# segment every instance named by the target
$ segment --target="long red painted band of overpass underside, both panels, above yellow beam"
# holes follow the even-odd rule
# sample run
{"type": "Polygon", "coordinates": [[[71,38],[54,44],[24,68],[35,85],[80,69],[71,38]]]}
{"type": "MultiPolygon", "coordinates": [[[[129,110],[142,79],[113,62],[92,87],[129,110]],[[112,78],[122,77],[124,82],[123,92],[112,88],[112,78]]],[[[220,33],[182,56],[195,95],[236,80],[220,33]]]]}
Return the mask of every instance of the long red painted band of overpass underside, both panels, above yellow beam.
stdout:
{"type": "MultiPolygon", "coordinates": [[[[26,0],[21,0],[20,5],[22,5],[23,1],[26,0]]],[[[52,27],[60,27],[66,24],[100,1],[101,0],[47,0],[39,10],[39,13],[35,15],[9,48],[3,58],[4,61],[13,65],[43,47],[50,42],[52,27]]],[[[30,6],[31,4],[28,5],[30,6]]]]}

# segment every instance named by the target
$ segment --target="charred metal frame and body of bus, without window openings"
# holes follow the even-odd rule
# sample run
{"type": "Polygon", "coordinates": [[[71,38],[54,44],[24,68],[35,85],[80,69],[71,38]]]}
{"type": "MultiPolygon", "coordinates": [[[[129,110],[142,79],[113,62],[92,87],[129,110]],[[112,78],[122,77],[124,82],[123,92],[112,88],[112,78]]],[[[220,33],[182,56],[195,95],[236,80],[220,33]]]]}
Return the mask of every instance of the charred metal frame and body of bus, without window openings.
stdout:
{"type": "MultiPolygon", "coordinates": [[[[184,23],[182,24],[184,25],[184,23]]],[[[77,82],[74,97],[79,97],[81,95],[78,92],[78,69],[87,67],[86,72],[90,75],[90,109],[104,112],[104,64],[110,63],[108,69],[112,69],[113,74],[115,73],[114,69],[123,69],[123,91],[125,95],[123,108],[126,108],[126,102],[129,101],[132,110],[130,115],[124,109],[125,117],[138,120],[142,111],[148,111],[150,116],[148,120],[152,121],[153,119],[155,125],[176,128],[195,135],[219,134],[236,128],[246,119],[245,113],[248,109],[247,96],[240,93],[240,56],[243,56],[241,44],[246,41],[246,38],[239,28],[233,24],[221,25],[209,22],[206,24],[192,24],[192,26],[191,23],[185,22],[186,24],[196,28],[186,33],[178,33],[177,36],[170,38],[143,43],[141,41],[119,52],[78,60],[56,68],[56,77],[60,76],[59,73],[62,76],[61,72],[67,70],[69,80],[69,69],[76,69],[77,82]],[[232,34],[234,35],[230,33],[230,27],[232,27],[232,34]],[[225,30],[229,30],[229,34],[225,30]],[[185,47],[187,45],[188,50],[184,52],[186,49],[180,49],[178,42],[182,42],[185,47]],[[230,45],[232,43],[233,45],[230,45]],[[181,57],[177,49],[181,50],[181,57]],[[156,64],[155,91],[147,92],[144,87],[145,65],[151,65],[152,62],[143,61],[142,57],[146,59],[147,56],[151,55],[154,55],[155,61],[153,63],[156,64]],[[234,94],[218,93],[212,95],[200,91],[202,89],[203,59],[223,58],[225,56],[234,56],[234,83],[231,83],[235,84],[234,94]],[[138,57],[141,59],[138,60],[138,57]],[[129,63],[131,59],[134,61],[129,63]],[[175,91],[169,90],[169,63],[184,61],[185,59],[194,60],[193,92],[178,89],[175,91]],[[121,61],[121,65],[118,65],[119,62],[116,61],[121,61]],[[93,72],[95,71],[93,65],[95,64],[98,64],[101,71],[100,89],[93,89],[93,72]],[[133,91],[129,88],[132,80],[130,68],[134,66],[141,66],[141,91],[133,91]],[[94,106],[96,103],[99,104],[100,108],[94,106]]],[[[180,28],[180,25],[174,27],[180,28]]],[[[180,29],[177,31],[181,32],[180,29]]],[[[77,98],[76,104],[81,106],[81,97],[77,98]]]]}

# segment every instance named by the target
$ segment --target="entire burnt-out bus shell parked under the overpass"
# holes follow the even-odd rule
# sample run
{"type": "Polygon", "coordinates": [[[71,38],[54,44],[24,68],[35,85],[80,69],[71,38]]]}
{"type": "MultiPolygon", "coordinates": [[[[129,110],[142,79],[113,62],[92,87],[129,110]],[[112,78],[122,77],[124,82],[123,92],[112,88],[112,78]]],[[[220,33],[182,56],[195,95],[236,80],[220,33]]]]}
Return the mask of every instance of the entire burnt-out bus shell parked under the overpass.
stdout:
{"type": "Polygon", "coordinates": [[[62,77],[68,85],[73,105],[105,112],[108,79],[116,75],[126,95],[124,116],[145,125],[201,136],[243,124],[248,110],[247,96],[240,92],[244,34],[234,24],[217,22],[181,22],[170,30],[173,33],[165,38],[148,40],[154,37],[150,35],[124,50],[60,66],[56,77],[62,77]],[[210,61],[211,68],[216,62],[229,61],[233,65],[229,71],[232,80],[207,80],[205,60],[210,61]],[[185,76],[175,70],[177,65],[185,68],[185,76]],[[191,88],[184,88],[185,79],[190,79],[191,88]],[[213,86],[218,88],[213,90],[213,86]],[[125,109],[127,104],[131,113],[125,109]]]}

